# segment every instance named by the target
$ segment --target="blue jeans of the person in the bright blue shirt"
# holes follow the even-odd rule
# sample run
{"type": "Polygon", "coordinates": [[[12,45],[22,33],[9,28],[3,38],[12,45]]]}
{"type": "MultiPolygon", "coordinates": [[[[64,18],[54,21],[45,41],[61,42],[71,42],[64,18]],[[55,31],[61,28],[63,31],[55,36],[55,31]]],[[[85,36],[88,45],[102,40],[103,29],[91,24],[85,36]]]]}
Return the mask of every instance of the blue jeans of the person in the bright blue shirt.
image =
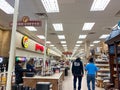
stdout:
{"type": "Polygon", "coordinates": [[[92,90],[95,90],[95,74],[88,74],[87,75],[87,87],[88,90],[90,89],[90,82],[92,81],[92,90]]]}

